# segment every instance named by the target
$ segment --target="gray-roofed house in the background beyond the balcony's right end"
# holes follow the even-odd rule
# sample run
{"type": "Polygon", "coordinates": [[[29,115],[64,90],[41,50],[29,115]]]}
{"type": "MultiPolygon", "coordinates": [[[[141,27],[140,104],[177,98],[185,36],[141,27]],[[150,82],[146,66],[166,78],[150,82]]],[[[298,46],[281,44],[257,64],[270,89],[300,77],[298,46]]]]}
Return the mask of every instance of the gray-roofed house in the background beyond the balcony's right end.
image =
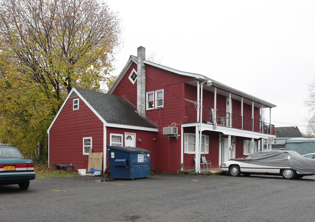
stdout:
{"type": "MultiPolygon", "coordinates": [[[[292,138],[303,138],[297,126],[275,127],[276,138],[272,139],[272,150],[284,150],[285,141],[292,138]]],[[[267,149],[267,139],[264,139],[264,150],[267,149]]]]}

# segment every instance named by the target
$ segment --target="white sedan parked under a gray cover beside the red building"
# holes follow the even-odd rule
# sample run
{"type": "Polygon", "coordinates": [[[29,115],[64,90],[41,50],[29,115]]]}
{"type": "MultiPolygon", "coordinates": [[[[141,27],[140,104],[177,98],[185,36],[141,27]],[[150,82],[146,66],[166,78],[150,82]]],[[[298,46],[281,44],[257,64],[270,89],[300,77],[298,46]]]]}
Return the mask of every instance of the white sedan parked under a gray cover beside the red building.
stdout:
{"type": "Polygon", "coordinates": [[[315,174],[315,160],[302,157],[295,151],[261,151],[246,158],[222,163],[221,171],[231,176],[266,174],[281,175],[285,179],[302,178],[315,174]]]}

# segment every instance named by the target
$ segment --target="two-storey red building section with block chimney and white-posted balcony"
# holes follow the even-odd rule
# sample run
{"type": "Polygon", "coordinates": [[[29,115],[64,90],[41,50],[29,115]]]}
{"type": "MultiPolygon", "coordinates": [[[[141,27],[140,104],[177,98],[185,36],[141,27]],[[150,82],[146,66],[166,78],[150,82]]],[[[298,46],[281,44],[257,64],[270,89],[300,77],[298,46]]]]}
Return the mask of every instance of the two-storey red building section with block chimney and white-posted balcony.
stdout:
{"type": "Polygon", "coordinates": [[[192,169],[200,155],[219,167],[256,152],[259,139],[275,137],[274,126],[260,118],[262,108],[271,112],[275,105],[203,75],[146,61],[142,46],[108,93],[126,98],[158,127],[152,148],[157,172],[192,169]]]}

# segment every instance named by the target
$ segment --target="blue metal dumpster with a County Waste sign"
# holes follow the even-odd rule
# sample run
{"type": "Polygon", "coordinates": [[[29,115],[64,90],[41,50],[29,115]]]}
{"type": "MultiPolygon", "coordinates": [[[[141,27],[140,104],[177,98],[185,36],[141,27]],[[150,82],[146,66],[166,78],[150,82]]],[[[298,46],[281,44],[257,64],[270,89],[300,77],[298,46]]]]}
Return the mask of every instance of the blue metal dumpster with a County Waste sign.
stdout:
{"type": "Polygon", "coordinates": [[[135,179],[150,176],[151,151],[129,146],[106,147],[111,178],[135,179]]]}

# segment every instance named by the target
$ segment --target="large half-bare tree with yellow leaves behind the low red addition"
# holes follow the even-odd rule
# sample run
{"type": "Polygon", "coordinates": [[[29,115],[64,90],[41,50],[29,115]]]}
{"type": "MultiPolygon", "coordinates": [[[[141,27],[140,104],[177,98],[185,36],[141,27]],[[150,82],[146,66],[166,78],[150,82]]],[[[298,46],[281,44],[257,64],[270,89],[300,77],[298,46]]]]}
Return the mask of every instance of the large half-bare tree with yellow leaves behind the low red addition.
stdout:
{"type": "Polygon", "coordinates": [[[112,82],[120,20],[98,0],[0,3],[0,139],[45,155],[47,128],[72,86],[112,82]]]}

